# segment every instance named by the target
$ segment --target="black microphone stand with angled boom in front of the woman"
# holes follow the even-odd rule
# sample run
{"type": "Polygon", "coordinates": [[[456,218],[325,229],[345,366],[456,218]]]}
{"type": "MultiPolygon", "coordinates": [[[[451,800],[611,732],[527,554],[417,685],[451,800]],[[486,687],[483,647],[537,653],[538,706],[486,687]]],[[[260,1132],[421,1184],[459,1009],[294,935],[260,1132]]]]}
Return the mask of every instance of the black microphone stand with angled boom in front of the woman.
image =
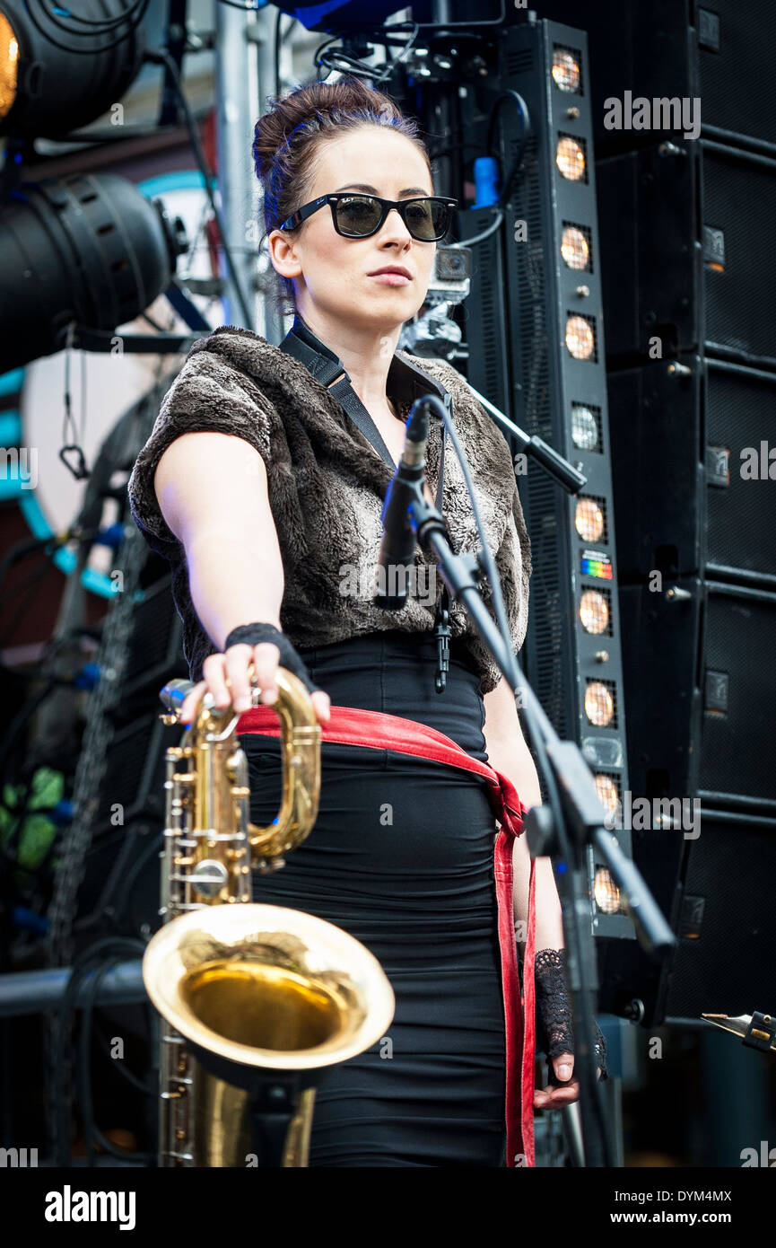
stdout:
{"type": "MultiPolygon", "coordinates": [[[[445,421],[470,488],[468,466],[457,432],[445,408],[434,396],[424,396],[413,403],[407,426],[409,427],[415,408],[420,403],[432,404],[445,421]]],[[[502,417],[502,419],[507,421],[507,417],[502,417]]],[[[508,423],[513,429],[517,429],[512,422],[508,423]]],[[[521,431],[518,432],[523,444],[529,449],[533,439],[521,431]]],[[[551,456],[541,457],[544,467],[570,480],[570,474],[574,474],[575,469],[551,448],[546,449],[551,452],[551,456]],[[558,472],[563,464],[569,472],[565,469],[558,472]]],[[[563,904],[563,927],[576,1041],[574,1073],[580,1087],[579,1103],[585,1143],[585,1164],[610,1167],[614,1164],[614,1151],[606,1127],[601,1088],[594,1060],[593,1017],[598,997],[598,972],[588,890],[588,845],[593,845],[606,862],[613,879],[625,897],[641,945],[654,956],[665,956],[676,945],[676,938],[646,887],[640,871],[623,854],[619,842],[606,829],[604,822],[606,811],[598,796],[595,781],[579,746],[574,741],[561,741],[555,733],[539,699],[520,671],[512,645],[502,635],[483,602],[475,574],[479,578],[488,572],[490,579],[495,582],[492,587],[494,603],[498,604],[500,600],[500,584],[492,555],[489,552],[483,554],[482,548],[475,554],[455,554],[450,547],[442,515],[423,495],[423,482],[408,482],[405,488],[408,489],[407,514],[419,545],[435,557],[450,597],[460,602],[472,617],[479,635],[509,680],[525,714],[529,738],[549,795],[548,805],[534,806],[525,816],[524,830],[528,836],[530,856],[535,859],[544,855],[559,855],[565,865],[564,871],[556,872],[556,882],[563,904]]],[[[500,600],[500,605],[503,610],[503,600],[500,600]]]]}

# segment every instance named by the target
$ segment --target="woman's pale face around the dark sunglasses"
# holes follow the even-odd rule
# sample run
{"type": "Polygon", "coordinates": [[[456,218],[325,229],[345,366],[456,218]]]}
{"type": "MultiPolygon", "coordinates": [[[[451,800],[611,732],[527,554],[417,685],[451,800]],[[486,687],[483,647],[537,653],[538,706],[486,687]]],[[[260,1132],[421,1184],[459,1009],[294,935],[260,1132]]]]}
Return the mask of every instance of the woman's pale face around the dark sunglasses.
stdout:
{"type": "MultiPolygon", "coordinates": [[[[366,125],[319,145],[313,182],[304,203],[334,191],[368,191],[386,200],[433,195],[425,160],[405,135],[366,125]]],[[[293,211],[301,207],[293,206],[293,211]]],[[[418,242],[398,212],[389,212],[369,238],[343,238],[324,205],[289,235],[273,230],[269,248],[274,268],[294,278],[302,317],[390,332],[414,316],[425,300],[435,242],[418,242]],[[387,265],[407,268],[410,281],[392,286],[369,276],[387,265]]]]}

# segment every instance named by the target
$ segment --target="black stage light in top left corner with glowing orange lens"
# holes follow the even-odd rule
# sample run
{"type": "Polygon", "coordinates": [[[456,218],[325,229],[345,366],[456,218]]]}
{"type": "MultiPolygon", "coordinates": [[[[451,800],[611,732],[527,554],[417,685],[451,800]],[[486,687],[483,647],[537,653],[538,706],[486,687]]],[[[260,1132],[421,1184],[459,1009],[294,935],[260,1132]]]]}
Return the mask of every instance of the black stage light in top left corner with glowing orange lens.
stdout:
{"type": "Polygon", "coordinates": [[[0,134],[59,139],[121,99],[142,64],[148,0],[80,0],[79,14],[0,0],[0,134]]]}

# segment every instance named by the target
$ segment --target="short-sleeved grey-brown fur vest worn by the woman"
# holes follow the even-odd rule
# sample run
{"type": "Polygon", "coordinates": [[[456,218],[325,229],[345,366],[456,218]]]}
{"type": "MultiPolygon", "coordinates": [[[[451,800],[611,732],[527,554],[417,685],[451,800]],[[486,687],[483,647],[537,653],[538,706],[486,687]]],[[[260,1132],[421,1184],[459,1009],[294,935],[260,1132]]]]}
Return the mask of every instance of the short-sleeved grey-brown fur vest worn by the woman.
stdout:
{"type": "MultiPolygon", "coordinates": [[[[409,371],[397,367],[397,358],[440,382],[450,393],[453,422],[470,466],[517,651],[526,629],[530,543],[507,438],[452,364],[397,352],[387,389],[389,397],[398,396],[403,418],[412,399],[400,394],[400,383],[409,371]]],[[[153,474],[170,443],[195,431],[242,437],[266,463],[284,572],[281,626],[297,649],[384,629],[433,630],[434,604],[443,582],[434,575],[435,560],[419,547],[402,610],[382,610],[373,603],[381,513],[393,475],[390,467],[301,361],[248,329],[223,326],[191,348],[165,394],[127,484],[136,524],[172,568],[172,593],[183,624],[183,653],[192,680],[202,679],[203,659],[218,648],[193,608],[186,552],[160,510],[153,474]]],[[[442,423],[432,414],[427,480],[434,498],[440,449],[442,423]]],[[[444,461],[442,512],[450,543],[458,554],[474,552],[479,545],[474,517],[449,438],[444,461]]],[[[207,482],[201,488],[205,490],[207,482]]],[[[482,589],[494,615],[484,579],[482,589]]],[[[483,693],[489,693],[500,671],[455,602],[450,604],[450,628],[453,638],[464,639],[483,693]]]]}

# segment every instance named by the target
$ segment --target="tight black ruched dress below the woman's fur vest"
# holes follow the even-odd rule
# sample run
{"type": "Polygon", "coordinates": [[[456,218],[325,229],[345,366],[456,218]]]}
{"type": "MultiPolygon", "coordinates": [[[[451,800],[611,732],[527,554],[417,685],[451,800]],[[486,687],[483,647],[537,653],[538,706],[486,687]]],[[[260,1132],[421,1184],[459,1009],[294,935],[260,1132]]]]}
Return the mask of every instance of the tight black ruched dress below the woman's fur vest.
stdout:
{"type": "MultiPolygon", "coordinates": [[[[400,715],[487,761],[479,676],[450,644],[434,688],[433,633],[372,633],[301,651],[332,704],[400,715]]],[[[241,734],[251,819],[269,822],[281,744],[241,734]]],[[[392,750],[323,743],[306,841],[253,900],[326,919],[379,960],[395,993],[387,1036],[333,1067],[316,1093],[309,1166],[504,1166],[505,1036],[484,781],[392,750]]]]}

